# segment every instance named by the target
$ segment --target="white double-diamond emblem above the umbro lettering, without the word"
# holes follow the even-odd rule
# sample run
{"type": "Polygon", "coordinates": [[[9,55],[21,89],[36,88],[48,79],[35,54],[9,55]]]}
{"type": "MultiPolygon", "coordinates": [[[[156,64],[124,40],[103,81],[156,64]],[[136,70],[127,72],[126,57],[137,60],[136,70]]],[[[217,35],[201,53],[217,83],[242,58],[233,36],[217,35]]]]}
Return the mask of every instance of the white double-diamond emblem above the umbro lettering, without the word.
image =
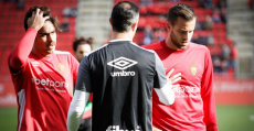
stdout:
{"type": "Polygon", "coordinates": [[[126,57],[118,57],[112,62],[108,62],[107,65],[123,70],[123,69],[126,69],[128,67],[136,65],[137,63],[138,62],[126,58],[126,57]]]}

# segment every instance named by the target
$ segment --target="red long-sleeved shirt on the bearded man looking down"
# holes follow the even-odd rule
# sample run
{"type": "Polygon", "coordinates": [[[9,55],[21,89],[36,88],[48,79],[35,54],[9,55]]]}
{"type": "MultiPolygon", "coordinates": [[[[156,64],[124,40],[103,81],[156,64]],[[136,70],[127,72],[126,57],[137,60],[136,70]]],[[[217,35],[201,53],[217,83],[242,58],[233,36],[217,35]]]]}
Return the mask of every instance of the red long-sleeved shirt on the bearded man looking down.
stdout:
{"type": "Polygon", "coordinates": [[[165,40],[144,46],[161,58],[166,73],[171,68],[181,73],[180,87],[173,88],[173,105],[166,106],[152,94],[152,124],[162,131],[216,131],[216,111],[213,95],[213,66],[209,50],[189,43],[187,50],[176,51],[165,40]]]}

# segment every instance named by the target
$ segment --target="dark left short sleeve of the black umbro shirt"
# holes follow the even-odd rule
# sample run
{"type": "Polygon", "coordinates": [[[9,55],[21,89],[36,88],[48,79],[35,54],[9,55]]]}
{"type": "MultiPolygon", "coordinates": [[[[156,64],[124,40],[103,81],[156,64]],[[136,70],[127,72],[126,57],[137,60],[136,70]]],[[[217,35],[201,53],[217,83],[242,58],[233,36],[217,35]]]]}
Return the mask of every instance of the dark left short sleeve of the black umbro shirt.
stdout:
{"type": "Polygon", "coordinates": [[[89,77],[89,62],[88,56],[83,57],[78,73],[77,73],[77,80],[76,80],[76,89],[92,92],[92,86],[91,86],[91,77],[89,77]]]}

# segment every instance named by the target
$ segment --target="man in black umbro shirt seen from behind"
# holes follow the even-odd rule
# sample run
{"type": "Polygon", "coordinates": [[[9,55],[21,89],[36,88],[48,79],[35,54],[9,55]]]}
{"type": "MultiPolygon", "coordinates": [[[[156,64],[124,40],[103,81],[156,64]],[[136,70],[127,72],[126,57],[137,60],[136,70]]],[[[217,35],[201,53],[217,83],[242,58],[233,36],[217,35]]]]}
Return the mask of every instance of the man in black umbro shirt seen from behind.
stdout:
{"type": "Polygon", "coordinates": [[[118,2],[112,12],[112,41],[86,55],[78,69],[67,129],[75,131],[93,92],[93,131],[151,131],[151,92],[156,89],[165,105],[174,100],[172,83],[157,54],[133,43],[139,9],[129,1],[118,2]]]}

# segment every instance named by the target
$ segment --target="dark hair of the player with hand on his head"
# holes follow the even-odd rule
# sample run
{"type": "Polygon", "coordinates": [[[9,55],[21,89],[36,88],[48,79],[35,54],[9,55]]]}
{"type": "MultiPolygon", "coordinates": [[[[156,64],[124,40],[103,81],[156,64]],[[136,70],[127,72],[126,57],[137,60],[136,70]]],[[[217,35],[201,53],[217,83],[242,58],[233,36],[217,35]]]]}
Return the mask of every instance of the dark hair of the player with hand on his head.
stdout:
{"type": "Polygon", "coordinates": [[[44,6],[35,6],[35,7],[32,7],[32,8],[30,8],[30,9],[28,10],[28,12],[25,13],[25,17],[24,17],[24,30],[27,31],[27,30],[29,29],[28,19],[32,17],[33,11],[36,11],[38,8],[39,8],[41,11],[44,12],[44,13],[43,13],[43,17],[46,17],[46,15],[50,17],[50,19],[47,19],[46,21],[51,21],[52,24],[54,25],[55,30],[61,32],[62,29],[60,28],[60,23],[59,23],[57,19],[56,19],[56,18],[53,18],[53,17],[51,15],[51,10],[50,10],[50,8],[44,7],[44,6]]]}

